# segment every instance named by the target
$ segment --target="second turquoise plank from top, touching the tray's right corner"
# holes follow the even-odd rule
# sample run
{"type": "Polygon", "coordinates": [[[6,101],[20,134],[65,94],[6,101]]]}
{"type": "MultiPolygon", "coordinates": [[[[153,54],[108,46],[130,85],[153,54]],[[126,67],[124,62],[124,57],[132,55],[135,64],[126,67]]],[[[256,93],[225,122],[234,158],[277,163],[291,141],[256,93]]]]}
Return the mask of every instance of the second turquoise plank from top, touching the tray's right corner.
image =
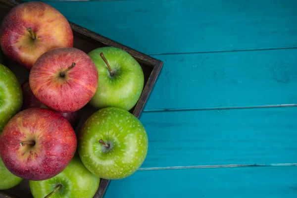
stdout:
{"type": "Polygon", "coordinates": [[[297,49],[155,55],[146,111],[297,103],[297,49]]]}

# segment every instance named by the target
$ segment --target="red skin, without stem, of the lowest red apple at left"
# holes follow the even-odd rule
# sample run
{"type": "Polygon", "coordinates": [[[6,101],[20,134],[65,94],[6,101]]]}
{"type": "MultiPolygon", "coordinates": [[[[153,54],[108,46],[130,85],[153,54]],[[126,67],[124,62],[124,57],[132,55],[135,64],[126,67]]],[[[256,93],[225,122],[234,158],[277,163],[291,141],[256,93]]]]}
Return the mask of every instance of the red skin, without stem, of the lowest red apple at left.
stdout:
{"type": "Polygon", "coordinates": [[[15,114],[0,136],[0,156],[14,175],[28,180],[45,180],[63,171],[77,148],[70,123],[46,108],[29,108],[15,114]],[[34,141],[35,145],[23,145],[34,141]]]}

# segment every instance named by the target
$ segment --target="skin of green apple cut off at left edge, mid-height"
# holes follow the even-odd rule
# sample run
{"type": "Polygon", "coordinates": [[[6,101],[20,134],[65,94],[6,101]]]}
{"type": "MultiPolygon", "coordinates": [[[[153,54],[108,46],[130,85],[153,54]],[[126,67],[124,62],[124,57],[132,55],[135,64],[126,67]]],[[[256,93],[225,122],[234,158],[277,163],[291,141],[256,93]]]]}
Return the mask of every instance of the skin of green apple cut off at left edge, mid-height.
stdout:
{"type": "Polygon", "coordinates": [[[0,133],[9,119],[21,108],[21,85],[13,72],[0,64],[0,133]]]}

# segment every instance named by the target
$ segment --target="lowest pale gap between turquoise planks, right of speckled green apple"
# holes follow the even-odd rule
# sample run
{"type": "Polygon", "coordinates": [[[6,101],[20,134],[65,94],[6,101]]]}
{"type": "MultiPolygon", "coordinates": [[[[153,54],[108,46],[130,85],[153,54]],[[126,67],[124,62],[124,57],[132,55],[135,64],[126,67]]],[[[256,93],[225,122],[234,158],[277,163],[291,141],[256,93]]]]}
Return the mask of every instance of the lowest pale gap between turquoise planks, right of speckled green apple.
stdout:
{"type": "Polygon", "coordinates": [[[229,164],[229,165],[200,165],[200,166],[171,166],[171,167],[149,167],[139,168],[139,171],[147,170],[172,170],[172,169],[197,169],[197,168],[242,168],[242,167],[271,167],[271,166],[297,166],[297,163],[275,163],[275,164],[229,164]]]}

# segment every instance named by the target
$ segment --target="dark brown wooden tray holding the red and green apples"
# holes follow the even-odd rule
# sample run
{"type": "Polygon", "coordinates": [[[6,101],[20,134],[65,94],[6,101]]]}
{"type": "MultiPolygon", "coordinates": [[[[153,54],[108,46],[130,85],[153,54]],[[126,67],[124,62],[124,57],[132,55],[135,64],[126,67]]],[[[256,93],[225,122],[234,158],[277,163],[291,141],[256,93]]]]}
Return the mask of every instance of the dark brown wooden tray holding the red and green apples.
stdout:
{"type": "MultiPolygon", "coordinates": [[[[0,22],[13,6],[22,2],[23,1],[21,0],[0,0],[0,22]]],[[[103,37],[95,32],[87,30],[72,22],[69,23],[74,34],[74,48],[81,49],[88,53],[91,50],[97,49],[99,47],[112,46],[126,50],[140,63],[145,75],[145,85],[139,101],[130,110],[130,112],[133,113],[133,115],[139,118],[144,109],[149,94],[154,86],[154,83],[160,73],[160,70],[163,66],[163,62],[155,58],[152,58],[146,54],[143,54],[139,51],[123,46],[117,42],[114,42],[106,37],[103,37]]],[[[29,77],[28,71],[22,69],[14,63],[7,64],[6,66],[12,70],[12,72],[16,75],[20,83],[23,83],[29,77]]],[[[92,108],[88,104],[85,107],[83,107],[83,115],[80,119],[78,127],[75,129],[76,132],[80,130],[82,124],[94,112],[96,112],[96,109],[92,108]]],[[[108,183],[109,180],[101,179],[99,189],[94,198],[103,197],[108,183]]],[[[0,191],[0,198],[33,198],[30,192],[29,182],[27,180],[24,180],[16,187],[0,191]]]]}

